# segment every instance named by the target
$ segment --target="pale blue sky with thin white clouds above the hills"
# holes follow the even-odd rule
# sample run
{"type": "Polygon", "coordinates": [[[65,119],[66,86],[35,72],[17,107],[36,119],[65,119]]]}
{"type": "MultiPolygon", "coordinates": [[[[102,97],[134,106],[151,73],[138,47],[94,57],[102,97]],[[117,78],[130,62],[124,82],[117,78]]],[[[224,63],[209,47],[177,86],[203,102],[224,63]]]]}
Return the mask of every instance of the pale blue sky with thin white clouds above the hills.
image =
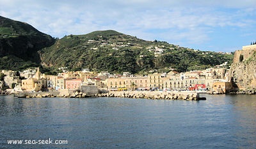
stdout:
{"type": "Polygon", "coordinates": [[[113,29],[200,51],[256,42],[256,0],[0,0],[0,15],[55,38],[113,29]]]}

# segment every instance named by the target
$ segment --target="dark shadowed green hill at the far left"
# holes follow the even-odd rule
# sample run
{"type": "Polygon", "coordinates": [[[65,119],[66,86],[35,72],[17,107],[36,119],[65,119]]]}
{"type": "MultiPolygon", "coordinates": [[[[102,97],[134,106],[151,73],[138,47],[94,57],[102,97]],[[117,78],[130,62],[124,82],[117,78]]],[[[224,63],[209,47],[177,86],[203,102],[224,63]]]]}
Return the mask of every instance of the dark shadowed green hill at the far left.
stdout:
{"type": "Polygon", "coordinates": [[[0,16],[0,69],[38,66],[38,51],[53,43],[54,38],[29,24],[0,16]]]}

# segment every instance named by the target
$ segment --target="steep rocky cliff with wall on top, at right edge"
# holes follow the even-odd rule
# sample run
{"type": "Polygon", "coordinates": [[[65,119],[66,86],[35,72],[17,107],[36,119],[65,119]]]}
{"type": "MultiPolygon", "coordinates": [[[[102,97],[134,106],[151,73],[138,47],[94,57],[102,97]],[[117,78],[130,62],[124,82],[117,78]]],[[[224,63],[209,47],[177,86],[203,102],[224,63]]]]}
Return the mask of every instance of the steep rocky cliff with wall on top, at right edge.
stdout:
{"type": "Polygon", "coordinates": [[[256,88],[256,45],[236,51],[230,68],[230,78],[237,90],[256,88]]]}

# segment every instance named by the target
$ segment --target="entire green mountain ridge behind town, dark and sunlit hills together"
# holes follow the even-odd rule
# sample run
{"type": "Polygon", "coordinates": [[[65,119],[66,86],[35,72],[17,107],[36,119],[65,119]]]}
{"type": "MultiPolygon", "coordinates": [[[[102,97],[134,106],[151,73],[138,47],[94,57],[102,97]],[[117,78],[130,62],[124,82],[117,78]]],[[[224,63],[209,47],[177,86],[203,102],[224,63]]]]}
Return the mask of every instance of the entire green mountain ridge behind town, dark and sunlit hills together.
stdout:
{"type": "Polygon", "coordinates": [[[29,24],[0,17],[0,61],[0,69],[10,70],[41,65],[52,72],[68,67],[144,74],[155,69],[202,70],[225,61],[231,63],[232,55],[142,40],[114,30],[55,39],[29,24]]]}

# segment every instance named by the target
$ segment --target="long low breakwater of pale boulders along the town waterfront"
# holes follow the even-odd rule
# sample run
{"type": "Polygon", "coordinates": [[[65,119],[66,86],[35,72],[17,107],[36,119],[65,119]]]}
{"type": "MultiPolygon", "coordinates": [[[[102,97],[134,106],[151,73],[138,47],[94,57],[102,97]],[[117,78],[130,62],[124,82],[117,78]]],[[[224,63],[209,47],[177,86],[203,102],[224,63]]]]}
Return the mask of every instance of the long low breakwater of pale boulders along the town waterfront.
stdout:
{"type": "Polygon", "coordinates": [[[96,93],[87,95],[79,91],[47,91],[47,92],[21,92],[20,98],[44,98],[44,97],[66,97],[66,98],[84,98],[84,97],[120,97],[120,98],[147,98],[163,100],[205,100],[199,93],[193,91],[109,91],[108,93],[96,93]]]}

